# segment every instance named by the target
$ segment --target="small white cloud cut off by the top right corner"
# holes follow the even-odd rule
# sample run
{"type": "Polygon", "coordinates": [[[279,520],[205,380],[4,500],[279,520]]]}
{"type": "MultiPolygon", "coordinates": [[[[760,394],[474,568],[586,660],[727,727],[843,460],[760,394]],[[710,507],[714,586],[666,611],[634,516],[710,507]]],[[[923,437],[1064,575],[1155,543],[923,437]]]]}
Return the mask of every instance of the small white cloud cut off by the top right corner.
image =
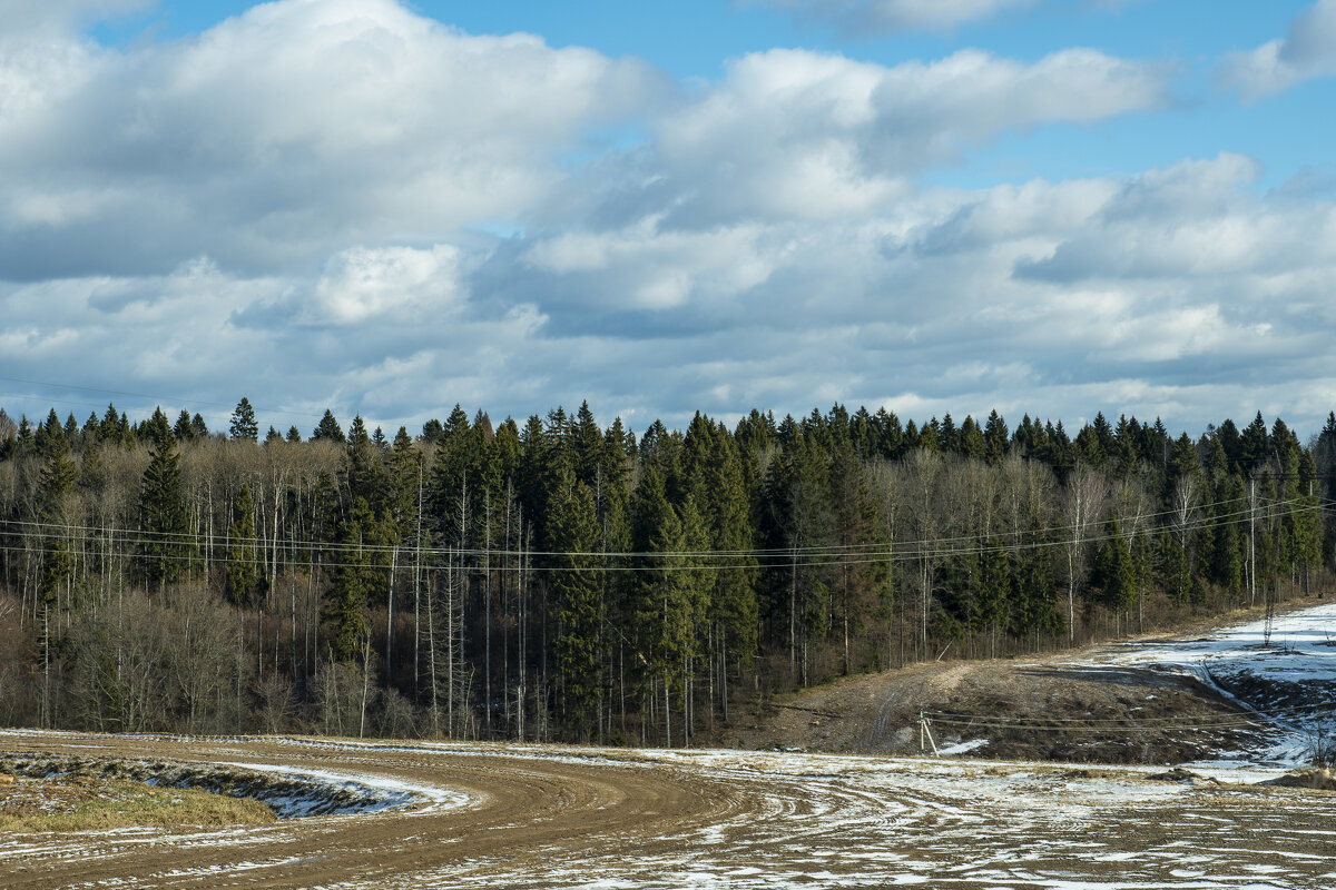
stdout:
{"type": "Polygon", "coordinates": [[[1289,24],[1284,39],[1232,53],[1224,83],[1256,101],[1312,77],[1336,73],[1336,0],[1317,0],[1289,24]]]}

